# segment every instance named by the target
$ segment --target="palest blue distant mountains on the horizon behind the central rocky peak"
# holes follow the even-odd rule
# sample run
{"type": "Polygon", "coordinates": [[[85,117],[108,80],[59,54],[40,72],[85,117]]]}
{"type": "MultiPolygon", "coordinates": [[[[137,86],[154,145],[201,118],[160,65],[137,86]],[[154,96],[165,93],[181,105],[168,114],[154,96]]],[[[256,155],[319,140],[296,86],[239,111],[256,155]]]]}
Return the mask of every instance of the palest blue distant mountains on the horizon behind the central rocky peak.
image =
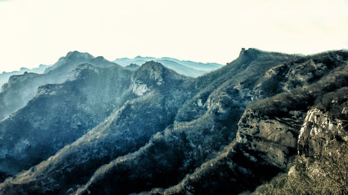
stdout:
{"type": "Polygon", "coordinates": [[[192,62],[186,60],[177,60],[175,58],[152,58],[152,57],[141,57],[137,56],[136,58],[117,58],[113,62],[125,67],[127,65],[135,64],[142,65],[147,61],[160,62],[165,67],[173,69],[179,74],[184,74],[186,76],[197,77],[201,76],[209,71],[214,71],[222,67],[217,63],[201,63],[201,62],[192,62]]]}

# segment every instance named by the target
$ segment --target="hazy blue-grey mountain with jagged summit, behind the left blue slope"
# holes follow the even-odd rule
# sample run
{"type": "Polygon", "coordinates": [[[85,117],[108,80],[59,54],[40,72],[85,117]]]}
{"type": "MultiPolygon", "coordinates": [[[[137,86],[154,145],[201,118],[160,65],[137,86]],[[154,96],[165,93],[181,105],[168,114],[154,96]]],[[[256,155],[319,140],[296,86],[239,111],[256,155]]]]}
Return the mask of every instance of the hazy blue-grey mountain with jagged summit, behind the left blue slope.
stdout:
{"type": "Polygon", "coordinates": [[[45,74],[24,72],[22,75],[13,75],[1,87],[0,92],[0,121],[11,115],[19,108],[23,108],[35,96],[38,87],[46,84],[63,83],[74,76],[71,71],[78,65],[89,63],[97,67],[118,66],[103,57],[94,58],[88,53],[78,51],[69,52],[51,67],[45,69],[45,74]]]}

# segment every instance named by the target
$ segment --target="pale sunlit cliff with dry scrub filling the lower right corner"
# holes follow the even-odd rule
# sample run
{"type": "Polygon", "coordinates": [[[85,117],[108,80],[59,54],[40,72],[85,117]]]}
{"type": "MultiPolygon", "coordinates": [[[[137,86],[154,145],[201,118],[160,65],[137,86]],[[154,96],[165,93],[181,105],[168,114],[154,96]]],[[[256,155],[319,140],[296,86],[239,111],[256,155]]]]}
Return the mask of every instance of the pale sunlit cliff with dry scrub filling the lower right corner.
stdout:
{"type": "Polygon", "coordinates": [[[303,121],[290,169],[253,194],[347,194],[347,105],[347,87],[320,97],[303,121]]]}

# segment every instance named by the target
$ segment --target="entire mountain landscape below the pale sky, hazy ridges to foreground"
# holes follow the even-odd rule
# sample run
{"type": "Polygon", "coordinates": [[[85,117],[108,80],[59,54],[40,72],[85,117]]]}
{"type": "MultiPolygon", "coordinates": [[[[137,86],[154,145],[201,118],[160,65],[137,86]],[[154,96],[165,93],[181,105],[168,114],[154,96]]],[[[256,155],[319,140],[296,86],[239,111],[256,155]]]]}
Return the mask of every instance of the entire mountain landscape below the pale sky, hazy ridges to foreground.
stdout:
{"type": "Polygon", "coordinates": [[[347,89],[344,50],[74,51],[3,85],[0,194],[345,194],[347,89]]]}

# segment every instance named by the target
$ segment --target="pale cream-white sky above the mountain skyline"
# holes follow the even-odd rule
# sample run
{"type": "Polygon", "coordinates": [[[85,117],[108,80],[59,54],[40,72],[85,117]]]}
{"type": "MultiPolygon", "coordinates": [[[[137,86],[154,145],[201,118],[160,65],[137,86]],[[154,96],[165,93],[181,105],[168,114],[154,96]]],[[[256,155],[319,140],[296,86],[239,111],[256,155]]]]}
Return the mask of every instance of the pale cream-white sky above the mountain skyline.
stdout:
{"type": "Polygon", "coordinates": [[[348,48],[347,0],[0,0],[0,72],[68,51],[226,64],[242,47],[348,48]]]}

